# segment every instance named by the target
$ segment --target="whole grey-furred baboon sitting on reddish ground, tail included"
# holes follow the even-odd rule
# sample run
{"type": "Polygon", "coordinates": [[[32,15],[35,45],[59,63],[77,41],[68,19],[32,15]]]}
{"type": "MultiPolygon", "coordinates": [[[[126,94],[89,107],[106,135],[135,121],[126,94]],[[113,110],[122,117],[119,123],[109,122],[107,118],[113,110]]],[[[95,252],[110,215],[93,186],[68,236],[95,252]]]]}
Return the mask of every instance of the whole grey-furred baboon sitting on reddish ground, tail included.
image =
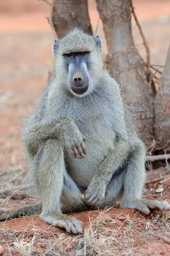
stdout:
{"type": "Polygon", "coordinates": [[[65,213],[112,207],[118,198],[121,207],[144,214],[169,209],[165,201],[142,199],[145,146],[101,51],[101,39],[78,28],[54,41],[51,77],[23,130],[29,182],[42,203],[1,221],[40,214],[77,234],[81,222],[65,213]]]}

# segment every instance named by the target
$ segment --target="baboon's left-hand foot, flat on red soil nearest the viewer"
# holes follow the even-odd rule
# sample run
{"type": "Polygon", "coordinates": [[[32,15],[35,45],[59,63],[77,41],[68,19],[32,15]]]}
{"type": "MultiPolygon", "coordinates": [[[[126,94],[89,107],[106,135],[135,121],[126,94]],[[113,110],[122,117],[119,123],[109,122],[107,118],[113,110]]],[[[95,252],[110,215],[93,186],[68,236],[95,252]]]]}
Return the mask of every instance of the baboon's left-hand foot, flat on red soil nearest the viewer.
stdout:
{"type": "Polygon", "coordinates": [[[55,227],[65,228],[67,232],[72,232],[73,234],[82,233],[82,227],[83,227],[82,222],[78,221],[73,216],[55,212],[47,216],[40,215],[40,218],[50,225],[54,225],[55,227]]]}

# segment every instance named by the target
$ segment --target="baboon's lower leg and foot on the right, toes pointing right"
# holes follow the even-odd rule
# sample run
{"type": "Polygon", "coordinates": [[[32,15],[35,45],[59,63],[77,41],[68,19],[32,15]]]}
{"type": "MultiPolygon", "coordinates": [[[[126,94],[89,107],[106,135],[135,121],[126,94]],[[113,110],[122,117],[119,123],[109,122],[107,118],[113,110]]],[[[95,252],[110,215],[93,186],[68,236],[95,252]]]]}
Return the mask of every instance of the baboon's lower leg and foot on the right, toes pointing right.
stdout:
{"type": "Polygon", "coordinates": [[[145,174],[145,152],[139,144],[127,163],[127,170],[124,175],[124,195],[121,207],[137,209],[144,214],[149,214],[150,209],[166,209],[170,205],[164,201],[142,199],[142,192],[146,180],[145,174]],[[150,209],[149,209],[150,208],[150,209]]]}

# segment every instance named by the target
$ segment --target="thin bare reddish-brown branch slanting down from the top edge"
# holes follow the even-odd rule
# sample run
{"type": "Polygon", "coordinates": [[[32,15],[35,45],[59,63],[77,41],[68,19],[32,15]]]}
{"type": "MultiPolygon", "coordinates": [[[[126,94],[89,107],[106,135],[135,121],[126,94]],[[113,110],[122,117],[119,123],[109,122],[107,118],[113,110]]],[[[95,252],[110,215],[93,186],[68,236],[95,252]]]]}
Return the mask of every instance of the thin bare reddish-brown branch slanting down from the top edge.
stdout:
{"type": "Polygon", "coordinates": [[[147,73],[149,73],[150,72],[150,49],[149,49],[147,41],[146,41],[146,39],[144,37],[144,33],[143,33],[142,29],[141,29],[141,25],[140,25],[140,23],[138,21],[138,18],[137,18],[136,14],[135,14],[135,9],[134,9],[132,0],[130,2],[130,7],[132,9],[133,17],[135,19],[136,25],[138,26],[139,32],[140,32],[141,37],[142,37],[143,42],[144,42],[144,47],[145,47],[146,52],[147,52],[147,65],[146,66],[147,66],[147,73]]]}

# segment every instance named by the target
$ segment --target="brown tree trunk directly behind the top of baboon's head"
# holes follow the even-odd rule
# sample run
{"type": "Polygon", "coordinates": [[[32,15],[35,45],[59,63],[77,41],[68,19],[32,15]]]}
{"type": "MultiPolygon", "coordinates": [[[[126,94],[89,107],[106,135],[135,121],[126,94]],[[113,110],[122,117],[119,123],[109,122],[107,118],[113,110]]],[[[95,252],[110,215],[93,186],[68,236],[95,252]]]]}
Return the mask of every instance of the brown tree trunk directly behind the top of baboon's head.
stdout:
{"type": "Polygon", "coordinates": [[[53,0],[51,23],[58,38],[62,38],[75,26],[93,34],[87,0],[53,0]]]}

